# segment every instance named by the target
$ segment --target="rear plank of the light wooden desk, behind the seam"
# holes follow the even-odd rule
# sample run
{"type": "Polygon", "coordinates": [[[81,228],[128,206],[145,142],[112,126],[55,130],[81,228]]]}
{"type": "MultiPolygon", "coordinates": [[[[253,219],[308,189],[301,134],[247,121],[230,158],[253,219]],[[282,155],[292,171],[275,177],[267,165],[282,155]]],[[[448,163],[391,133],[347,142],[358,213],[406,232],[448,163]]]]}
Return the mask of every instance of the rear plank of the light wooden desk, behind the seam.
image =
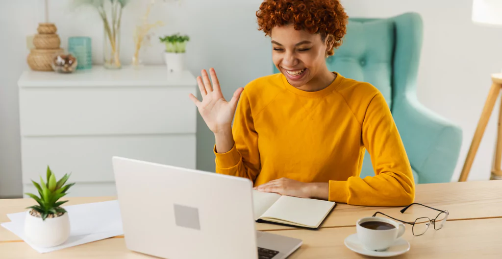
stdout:
{"type": "MultiPolygon", "coordinates": [[[[502,181],[470,181],[431,183],[417,185],[415,201],[450,212],[448,220],[502,217],[502,181]]],[[[66,204],[74,205],[97,201],[112,200],[115,197],[73,197],[66,204]]],[[[0,222],[10,221],[6,214],[25,211],[34,205],[32,199],[0,199],[0,222]]],[[[65,205],[66,205],[65,204],[65,205]]],[[[373,215],[375,211],[384,212],[402,220],[414,221],[417,217],[433,218],[437,212],[422,206],[414,206],[401,214],[402,207],[364,207],[337,204],[335,209],[321,225],[325,227],[355,226],[357,219],[373,215]]],[[[294,229],[267,223],[257,223],[258,230],[294,229]]],[[[0,227],[0,242],[19,240],[9,230],[0,227]]]]}

